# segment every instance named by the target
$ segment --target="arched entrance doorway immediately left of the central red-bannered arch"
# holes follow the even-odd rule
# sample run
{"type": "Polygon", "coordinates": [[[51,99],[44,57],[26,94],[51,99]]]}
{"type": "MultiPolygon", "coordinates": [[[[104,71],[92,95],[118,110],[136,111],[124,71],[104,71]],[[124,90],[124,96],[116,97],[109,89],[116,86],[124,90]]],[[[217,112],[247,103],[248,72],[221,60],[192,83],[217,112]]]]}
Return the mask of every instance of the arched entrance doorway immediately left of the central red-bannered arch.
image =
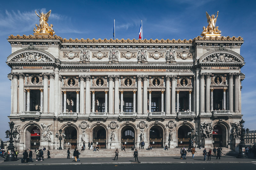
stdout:
{"type": "Polygon", "coordinates": [[[95,127],[92,133],[93,147],[98,145],[101,149],[106,149],[106,129],[102,126],[95,127]]]}

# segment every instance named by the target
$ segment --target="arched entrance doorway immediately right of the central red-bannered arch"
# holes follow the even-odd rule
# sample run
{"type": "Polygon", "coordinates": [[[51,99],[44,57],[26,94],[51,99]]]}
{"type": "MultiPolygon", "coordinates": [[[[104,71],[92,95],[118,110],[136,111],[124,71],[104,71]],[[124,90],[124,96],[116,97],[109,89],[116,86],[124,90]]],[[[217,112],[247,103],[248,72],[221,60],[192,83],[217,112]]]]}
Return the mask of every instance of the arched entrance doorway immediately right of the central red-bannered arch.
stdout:
{"type": "Polygon", "coordinates": [[[163,129],[160,126],[153,126],[149,131],[149,145],[152,148],[162,148],[163,134],[163,129]]]}

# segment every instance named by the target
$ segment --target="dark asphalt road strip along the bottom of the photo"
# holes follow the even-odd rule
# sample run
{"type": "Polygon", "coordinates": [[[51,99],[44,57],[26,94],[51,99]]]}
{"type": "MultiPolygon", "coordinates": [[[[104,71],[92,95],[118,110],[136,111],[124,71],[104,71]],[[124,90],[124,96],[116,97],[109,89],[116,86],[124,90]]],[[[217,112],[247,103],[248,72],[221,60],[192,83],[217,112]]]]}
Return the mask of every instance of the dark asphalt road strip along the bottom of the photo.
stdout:
{"type": "Polygon", "coordinates": [[[166,170],[166,169],[175,169],[175,170],[224,170],[224,169],[256,169],[256,162],[253,163],[211,163],[211,164],[202,164],[202,163],[176,163],[176,164],[105,164],[105,165],[42,165],[42,166],[0,166],[0,170],[9,170],[9,169],[18,169],[18,170],[28,170],[28,169],[36,169],[36,170],[56,170],[56,168],[61,170],[115,170],[115,169],[122,169],[122,170],[166,170]]]}

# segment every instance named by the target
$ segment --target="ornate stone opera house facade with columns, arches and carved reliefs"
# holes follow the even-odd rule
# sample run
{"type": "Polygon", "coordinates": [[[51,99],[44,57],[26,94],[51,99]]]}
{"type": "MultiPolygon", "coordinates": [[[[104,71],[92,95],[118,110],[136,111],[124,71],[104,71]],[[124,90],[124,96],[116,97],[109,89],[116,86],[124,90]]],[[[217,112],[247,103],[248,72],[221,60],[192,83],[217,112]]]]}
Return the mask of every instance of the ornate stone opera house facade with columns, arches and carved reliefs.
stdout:
{"type": "Polygon", "coordinates": [[[8,41],[9,118],[19,132],[19,151],[34,143],[57,149],[59,129],[66,135],[64,149],[81,149],[88,141],[111,149],[138,148],[140,141],[181,147],[192,130],[198,133],[196,146],[207,139],[237,147],[245,78],[241,37],[176,41],[11,35],[8,41]]]}

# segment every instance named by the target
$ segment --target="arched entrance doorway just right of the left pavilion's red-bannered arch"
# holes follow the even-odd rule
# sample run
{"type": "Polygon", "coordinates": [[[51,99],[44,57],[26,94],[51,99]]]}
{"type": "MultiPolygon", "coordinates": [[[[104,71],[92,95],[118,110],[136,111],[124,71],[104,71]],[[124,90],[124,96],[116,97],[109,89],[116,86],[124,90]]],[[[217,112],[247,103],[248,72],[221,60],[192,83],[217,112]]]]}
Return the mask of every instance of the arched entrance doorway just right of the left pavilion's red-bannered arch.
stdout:
{"type": "Polygon", "coordinates": [[[73,126],[68,126],[64,129],[66,137],[64,138],[64,149],[75,149],[77,148],[77,130],[73,126]]]}

